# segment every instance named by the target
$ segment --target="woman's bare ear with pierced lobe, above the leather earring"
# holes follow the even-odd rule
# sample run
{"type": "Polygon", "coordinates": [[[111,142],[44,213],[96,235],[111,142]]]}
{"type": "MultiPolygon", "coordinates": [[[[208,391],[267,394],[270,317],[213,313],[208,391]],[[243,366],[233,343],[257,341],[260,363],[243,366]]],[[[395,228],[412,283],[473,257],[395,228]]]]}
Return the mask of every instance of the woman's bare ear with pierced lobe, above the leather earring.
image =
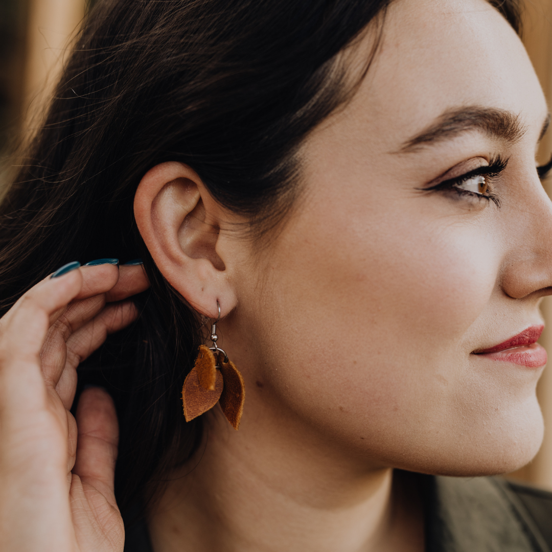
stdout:
{"type": "Polygon", "coordinates": [[[192,168],[166,162],[150,169],[136,190],[134,216],[157,268],[194,309],[216,318],[217,301],[222,316],[236,306],[230,255],[217,247],[222,208],[192,168]]]}

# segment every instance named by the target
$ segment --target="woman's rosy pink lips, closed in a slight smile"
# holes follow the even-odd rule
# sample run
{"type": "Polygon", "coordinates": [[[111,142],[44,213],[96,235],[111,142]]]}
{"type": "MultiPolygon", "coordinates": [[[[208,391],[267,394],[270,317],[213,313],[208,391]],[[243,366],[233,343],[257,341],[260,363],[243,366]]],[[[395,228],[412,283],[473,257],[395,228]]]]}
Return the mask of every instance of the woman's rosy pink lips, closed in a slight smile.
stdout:
{"type": "Polygon", "coordinates": [[[527,368],[540,368],[546,364],[546,351],[537,343],[544,326],[530,326],[506,341],[490,347],[474,351],[481,357],[491,360],[502,360],[527,368]]]}

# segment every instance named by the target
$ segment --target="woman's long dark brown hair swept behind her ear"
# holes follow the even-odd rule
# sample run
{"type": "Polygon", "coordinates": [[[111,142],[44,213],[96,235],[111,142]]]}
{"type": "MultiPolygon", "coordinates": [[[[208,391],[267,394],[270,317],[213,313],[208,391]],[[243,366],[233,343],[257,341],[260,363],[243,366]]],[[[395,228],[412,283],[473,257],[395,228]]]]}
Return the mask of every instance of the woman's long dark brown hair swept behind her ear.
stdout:
{"type": "MultiPolygon", "coordinates": [[[[285,216],[299,145],[351,91],[336,56],[390,1],[100,0],[88,14],[0,205],[0,313],[66,262],[144,259],[139,320],[82,365],[77,390],[115,399],[123,505],[147,500],[201,437],[180,399],[199,321],[136,229],[140,178],[180,161],[252,228],[285,216]]],[[[519,30],[516,2],[492,3],[519,30]]]]}

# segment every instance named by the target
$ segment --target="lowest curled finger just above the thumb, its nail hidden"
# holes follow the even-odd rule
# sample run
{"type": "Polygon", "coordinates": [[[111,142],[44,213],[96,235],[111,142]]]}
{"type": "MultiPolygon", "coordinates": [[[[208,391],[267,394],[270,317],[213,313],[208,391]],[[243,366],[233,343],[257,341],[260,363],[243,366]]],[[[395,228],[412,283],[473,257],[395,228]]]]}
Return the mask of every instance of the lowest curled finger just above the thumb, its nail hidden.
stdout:
{"type": "Polygon", "coordinates": [[[65,366],[55,382],[55,389],[63,405],[69,409],[77,388],[77,367],[88,358],[110,333],[118,332],[136,320],[138,310],[128,301],[109,305],[94,320],[73,333],[67,341],[65,366]]]}

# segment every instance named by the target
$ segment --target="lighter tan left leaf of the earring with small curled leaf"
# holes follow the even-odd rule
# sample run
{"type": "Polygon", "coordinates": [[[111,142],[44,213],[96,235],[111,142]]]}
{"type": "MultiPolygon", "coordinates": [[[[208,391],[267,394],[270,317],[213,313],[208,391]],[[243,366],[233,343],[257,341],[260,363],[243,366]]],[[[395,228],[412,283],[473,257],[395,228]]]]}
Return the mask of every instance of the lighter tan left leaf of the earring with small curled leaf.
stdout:
{"type": "Polygon", "coordinates": [[[184,418],[187,422],[207,412],[217,404],[224,383],[216,369],[216,359],[209,347],[199,347],[198,358],[182,387],[184,418]]]}

